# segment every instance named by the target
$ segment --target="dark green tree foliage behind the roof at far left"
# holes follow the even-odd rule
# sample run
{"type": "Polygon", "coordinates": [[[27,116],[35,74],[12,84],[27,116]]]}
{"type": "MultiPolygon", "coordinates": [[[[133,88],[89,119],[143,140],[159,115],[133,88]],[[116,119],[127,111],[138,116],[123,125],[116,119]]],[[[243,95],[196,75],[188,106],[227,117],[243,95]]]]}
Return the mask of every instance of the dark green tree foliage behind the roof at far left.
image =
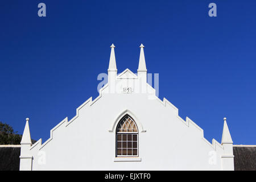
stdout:
{"type": "Polygon", "coordinates": [[[0,144],[20,144],[22,135],[17,133],[13,127],[0,121],[0,144]]]}

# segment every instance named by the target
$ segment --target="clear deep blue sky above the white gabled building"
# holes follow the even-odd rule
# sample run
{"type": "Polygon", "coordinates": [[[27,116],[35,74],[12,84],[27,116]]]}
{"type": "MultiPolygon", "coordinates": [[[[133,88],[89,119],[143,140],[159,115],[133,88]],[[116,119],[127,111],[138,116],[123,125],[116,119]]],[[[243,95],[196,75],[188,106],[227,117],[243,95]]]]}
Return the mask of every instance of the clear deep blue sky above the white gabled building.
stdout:
{"type": "Polygon", "coordinates": [[[1,1],[0,121],[43,142],[107,73],[137,72],[144,44],[159,97],[221,142],[227,117],[234,144],[256,144],[256,1],[1,1]],[[38,3],[46,3],[39,18],[38,3]],[[217,17],[208,5],[217,5],[217,17]]]}

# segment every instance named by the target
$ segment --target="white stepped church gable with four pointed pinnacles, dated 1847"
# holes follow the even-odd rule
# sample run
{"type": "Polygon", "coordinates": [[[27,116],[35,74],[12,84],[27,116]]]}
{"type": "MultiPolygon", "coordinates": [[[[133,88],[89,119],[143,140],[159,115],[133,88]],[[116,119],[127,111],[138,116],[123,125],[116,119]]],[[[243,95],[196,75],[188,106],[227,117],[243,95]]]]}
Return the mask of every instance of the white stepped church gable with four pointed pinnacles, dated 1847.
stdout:
{"type": "Polygon", "coordinates": [[[138,75],[117,75],[111,46],[109,80],[76,116],[65,118],[42,144],[31,146],[28,120],[23,133],[20,170],[233,170],[233,142],[226,120],[220,144],[178,109],[155,96],[147,84],[141,46],[138,75]]]}

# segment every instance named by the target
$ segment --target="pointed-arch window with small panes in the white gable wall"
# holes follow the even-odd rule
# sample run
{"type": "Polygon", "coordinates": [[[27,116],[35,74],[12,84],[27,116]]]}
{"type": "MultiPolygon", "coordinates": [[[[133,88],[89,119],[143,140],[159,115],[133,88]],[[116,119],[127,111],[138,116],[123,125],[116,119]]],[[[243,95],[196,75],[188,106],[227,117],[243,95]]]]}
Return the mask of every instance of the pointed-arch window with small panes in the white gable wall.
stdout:
{"type": "Polygon", "coordinates": [[[129,115],[119,121],[116,141],[116,156],[138,156],[138,128],[129,115]]]}

